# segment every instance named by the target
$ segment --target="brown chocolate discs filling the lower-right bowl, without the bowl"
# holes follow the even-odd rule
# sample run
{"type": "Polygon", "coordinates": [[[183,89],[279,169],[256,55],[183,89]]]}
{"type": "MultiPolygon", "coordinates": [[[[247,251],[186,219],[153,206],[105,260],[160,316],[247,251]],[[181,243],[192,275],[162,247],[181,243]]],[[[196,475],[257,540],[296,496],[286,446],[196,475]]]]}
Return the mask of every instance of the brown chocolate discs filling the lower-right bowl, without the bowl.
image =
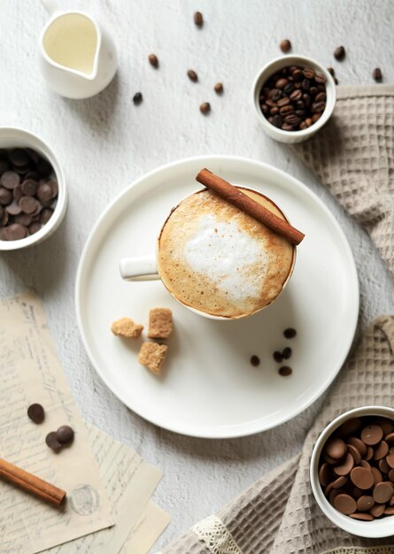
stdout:
{"type": "Polygon", "coordinates": [[[353,418],[328,438],[318,477],[339,512],[364,521],[394,515],[393,426],[387,418],[353,418]]]}

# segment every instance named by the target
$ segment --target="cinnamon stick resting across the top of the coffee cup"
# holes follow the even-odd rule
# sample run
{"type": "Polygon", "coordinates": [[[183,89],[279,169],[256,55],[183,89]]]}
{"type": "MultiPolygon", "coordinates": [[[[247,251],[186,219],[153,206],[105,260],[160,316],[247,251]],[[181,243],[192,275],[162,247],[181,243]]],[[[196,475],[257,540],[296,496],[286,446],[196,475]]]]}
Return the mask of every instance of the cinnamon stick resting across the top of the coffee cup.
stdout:
{"type": "Polygon", "coordinates": [[[251,196],[245,195],[242,190],[221,179],[219,175],[215,175],[209,169],[205,168],[197,173],[196,181],[205,185],[207,189],[213,190],[218,196],[227,200],[229,204],[235,205],[260,223],[264,223],[274,233],[283,236],[292,244],[299,244],[305,237],[304,233],[298,231],[296,227],[292,227],[288,221],[274,215],[273,212],[253,200],[251,196]]]}

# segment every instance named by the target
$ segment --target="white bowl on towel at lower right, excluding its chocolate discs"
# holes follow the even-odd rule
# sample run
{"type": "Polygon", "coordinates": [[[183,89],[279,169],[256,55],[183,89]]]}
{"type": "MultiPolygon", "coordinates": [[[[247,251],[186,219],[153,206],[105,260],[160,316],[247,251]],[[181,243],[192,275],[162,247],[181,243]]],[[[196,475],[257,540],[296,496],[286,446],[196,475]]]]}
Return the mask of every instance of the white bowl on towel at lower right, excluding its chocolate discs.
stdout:
{"type": "Polygon", "coordinates": [[[328,437],[347,419],[367,415],[382,416],[394,420],[394,410],[385,406],[364,406],[362,408],[355,408],[350,412],[344,412],[342,415],[338,416],[334,419],[334,421],[331,421],[328,427],[324,429],[314,445],[310,466],[310,478],[316,502],[319,504],[321,511],[324,512],[328,519],[331,519],[337,527],[341,527],[341,529],[344,529],[344,531],[347,531],[348,533],[352,533],[352,535],[376,539],[393,534],[394,516],[386,516],[382,519],[374,519],[374,521],[360,521],[359,519],[352,519],[349,516],[338,512],[334,506],[329,504],[328,499],[324,496],[318,476],[321,450],[327,442],[328,437]]]}

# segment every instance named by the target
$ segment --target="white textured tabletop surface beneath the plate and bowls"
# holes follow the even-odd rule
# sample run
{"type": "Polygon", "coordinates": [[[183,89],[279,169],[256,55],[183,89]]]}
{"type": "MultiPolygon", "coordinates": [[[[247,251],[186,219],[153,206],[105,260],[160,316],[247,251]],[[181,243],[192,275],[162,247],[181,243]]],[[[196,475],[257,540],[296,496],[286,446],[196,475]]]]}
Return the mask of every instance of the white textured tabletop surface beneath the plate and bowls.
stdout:
{"type": "Polygon", "coordinates": [[[37,37],[46,20],[41,4],[0,4],[0,122],[27,127],[50,142],[70,190],[66,220],[56,235],[34,249],[1,255],[0,292],[33,288],[39,293],[82,414],[165,471],[155,499],[170,512],[172,523],[159,546],[295,454],[321,400],[286,425],[228,441],[174,435],[129,412],[93,371],[75,323],[74,278],[89,230],[113,196],[158,165],[198,154],[257,158],[304,181],[336,213],[359,268],[362,327],[379,313],[393,312],[390,279],[374,246],[291,151],[263,135],[251,109],[250,87],[259,67],[280,54],[277,44],[284,37],[291,39],[295,53],[335,66],[343,84],[372,83],[376,65],[384,82],[392,83],[394,10],[388,0],[61,4],[84,9],[105,24],[117,42],[120,69],[95,98],[54,96],[35,63],[37,37]],[[193,24],[196,10],[205,15],[201,30],[193,24]],[[339,63],[332,51],[341,43],[347,58],[339,63]],[[160,60],[158,70],[147,62],[151,52],[160,60]],[[189,68],[197,71],[198,83],[185,76],[189,68]],[[224,83],[221,97],[212,91],[216,81],[224,83]],[[138,90],[144,101],[135,107],[131,98],[138,90]],[[204,101],[212,104],[208,117],[198,111],[204,101]]]}

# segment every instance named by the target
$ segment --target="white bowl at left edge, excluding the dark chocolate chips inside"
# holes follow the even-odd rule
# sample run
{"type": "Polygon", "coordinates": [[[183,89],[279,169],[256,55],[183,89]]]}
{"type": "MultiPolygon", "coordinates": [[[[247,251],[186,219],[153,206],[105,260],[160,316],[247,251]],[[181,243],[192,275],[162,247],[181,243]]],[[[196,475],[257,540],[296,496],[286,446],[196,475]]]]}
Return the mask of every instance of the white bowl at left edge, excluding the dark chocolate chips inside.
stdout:
{"type": "Polygon", "coordinates": [[[34,133],[19,127],[0,127],[0,148],[32,148],[46,158],[53,167],[58,181],[58,201],[52,217],[35,235],[29,235],[19,241],[1,241],[0,250],[20,250],[38,244],[48,238],[60,225],[66,213],[67,191],[65,176],[58,163],[58,158],[46,142],[34,133]]]}

